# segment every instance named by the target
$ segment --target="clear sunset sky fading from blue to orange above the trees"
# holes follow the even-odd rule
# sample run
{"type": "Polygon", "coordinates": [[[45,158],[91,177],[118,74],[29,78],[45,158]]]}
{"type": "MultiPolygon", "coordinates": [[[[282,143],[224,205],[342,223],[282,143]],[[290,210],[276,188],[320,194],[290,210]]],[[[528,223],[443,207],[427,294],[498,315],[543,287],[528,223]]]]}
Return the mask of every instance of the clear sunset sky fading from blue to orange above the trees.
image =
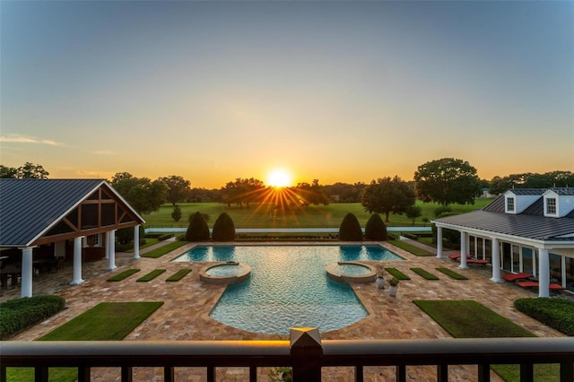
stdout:
{"type": "Polygon", "coordinates": [[[49,178],[574,170],[574,2],[2,1],[0,17],[0,164],[49,178]]]}

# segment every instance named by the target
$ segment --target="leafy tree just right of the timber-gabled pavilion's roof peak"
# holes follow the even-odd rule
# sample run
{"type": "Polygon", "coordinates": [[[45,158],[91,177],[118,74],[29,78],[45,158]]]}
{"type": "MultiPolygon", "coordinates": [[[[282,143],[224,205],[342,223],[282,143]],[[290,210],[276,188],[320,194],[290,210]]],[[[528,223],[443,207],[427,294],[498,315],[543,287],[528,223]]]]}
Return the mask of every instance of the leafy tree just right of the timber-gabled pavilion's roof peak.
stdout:
{"type": "Polygon", "coordinates": [[[135,178],[129,172],[118,172],[110,184],[138,213],[159,210],[169,189],[161,179],[135,178]]]}

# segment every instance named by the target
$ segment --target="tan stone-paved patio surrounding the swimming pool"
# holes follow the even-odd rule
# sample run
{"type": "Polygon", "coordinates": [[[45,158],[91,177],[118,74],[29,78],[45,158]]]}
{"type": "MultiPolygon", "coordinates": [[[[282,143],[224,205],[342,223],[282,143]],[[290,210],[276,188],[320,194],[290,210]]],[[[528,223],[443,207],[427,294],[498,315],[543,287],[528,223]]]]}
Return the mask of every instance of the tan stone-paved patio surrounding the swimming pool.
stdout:
{"type": "MultiPolygon", "coordinates": [[[[284,244],[284,243],[283,243],[284,244]]],[[[300,243],[299,243],[300,244],[300,243]]],[[[417,339],[417,338],[447,338],[450,337],[437,323],[416,308],[413,300],[476,300],[487,308],[507,317],[520,326],[541,337],[563,336],[562,334],[542,325],[530,317],[526,317],[513,307],[513,301],[518,298],[536,297],[535,293],[525,291],[516,285],[494,283],[489,280],[489,267],[471,265],[469,269],[458,269],[457,263],[436,257],[416,257],[404,250],[383,243],[405,261],[382,262],[385,266],[394,266],[406,273],[412,280],[400,283],[396,298],[390,297],[387,290],[378,290],[375,283],[355,284],[353,290],[361,299],[370,316],[360,322],[339,330],[322,334],[323,339],[417,339]],[[431,273],[439,275],[439,281],[427,281],[413,273],[411,267],[422,267],[431,273]],[[468,277],[467,281],[456,281],[435,270],[437,267],[447,267],[468,277]]],[[[211,317],[209,312],[219,300],[224,287],[204,284],[199,281],[199,270],[202,263],[171,263],[170,260],[187,251],[192,245],[187,245],[157,259],[141,258],[134,260],[131,254],[117,254],[117,270],[107,271],[106,261],[86,264],[80,285],[71,286],[72,267],[66,266],[59,272],[39,274],[34,281],[34,294],[57,293],[66,300],[66,309],[45,322],[18,334],[13,340],[33,341],[48,333],[73,317],[78,316],[101,301],[164,301],[164,305],[149,317],[142,325],[126,336],[126,341],[138,340],[265,340],[287,339],[287,335],[255,334],[230,326],[225,326],[211,317]],[[182,267],[192,269],[180,282],[165,282],[165,279],[182,267]],[[160,277],[152,282],[135,282],[135,277],[122,282],[107,282],[113,274],[128,268],[139,268],[139,274],[145,274],[153,269],[167,269],[160,277]]],[[[151,249],[147,249],[151,250],[151,249]]],[[[144,250],[142,250],[144,253],[144,250]]],[[[381,262],[367,262],[381,265],[381,262]]],[[[18,288],[2,291],[2,300],[19,297],[18,288]]],[[[450,380],[476,380],[476,367],[451,367],[450,380]]],[[[260,369],[260,380],[267,380],[268,369],[260,369]]],[[[366,381],[385,381],[394,378],[394,368],[367,368],[366,381]]],[[[334,368],[324,370],[325,381],[352,380],[352,369],[334,368]]],[[[409,380],[434,381],[434,367],[407,368],[409,380]]],[[[248,369],[220,368],[217,369],[218,380],[244,381],[248,380],[248,369]]],[[[94,380],[119,380],[118,369],[94,369],[94,380]]],[[[177,380],[204,381],[203,369],[178,369],[177,380]]],[[[136,381],[161,381],[161,369],[138,368],[135,370],[136,381]]],[[[497,381],[500,378],[492,377],[497,381]]]]}

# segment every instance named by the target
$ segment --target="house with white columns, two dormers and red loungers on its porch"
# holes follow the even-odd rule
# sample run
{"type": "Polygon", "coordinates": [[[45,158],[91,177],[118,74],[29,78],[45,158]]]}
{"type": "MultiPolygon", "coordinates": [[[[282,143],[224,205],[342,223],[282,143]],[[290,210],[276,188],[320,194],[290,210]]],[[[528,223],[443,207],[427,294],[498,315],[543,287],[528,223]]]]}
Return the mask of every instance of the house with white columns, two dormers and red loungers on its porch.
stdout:
{"type": "Polygon", "coordinates": [[[492,282],[502,273],[527,273],[539,297],[551,285],[574,293],[574,187],[513,188],[482,210],[432,221],[437,257],[443,256],[442,230],[460,232],[460,267],[467,258],[487,260],[492,282]]]}

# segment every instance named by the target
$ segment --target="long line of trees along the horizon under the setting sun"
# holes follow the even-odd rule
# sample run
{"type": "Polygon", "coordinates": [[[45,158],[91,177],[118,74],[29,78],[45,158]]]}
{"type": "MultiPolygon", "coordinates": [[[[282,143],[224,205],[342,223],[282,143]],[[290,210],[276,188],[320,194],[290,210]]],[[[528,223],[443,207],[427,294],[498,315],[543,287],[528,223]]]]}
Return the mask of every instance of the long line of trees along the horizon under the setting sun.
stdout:
{"type": "MultiPolygon", "coordinates": [[[[0,178],[48,178],[48,171],[39,164],[26,162],[20,168],[0,165],[0,178]]],[[[448,211],[448,204],[474,204],[474,198],[488,189],[498,195],[509,188],[567,187],[574,185],[574,173],[552,171],[544,174],[512,174],[494,177],[490,181],[480,179],[477,170],[467,161],[442,158],[420,165],[413,181],[395,176],[377,178],[370,184],[362,182],[321,185],[318,179],[311,183],[299,183],[277,192],[265,187],[257,178],[235,178],[219,189],[191,187],[191,182],[181,176],[170,175],[156,180],[136,178],[128,172],[118,172],[109,180],[114,189],[131,204],[138,213],[152,213],[161,204],[174,206],[174,219],[178,203],[217,202],[249,208],[250,204],[283,204],[290,208],[304,208],[310,204],[361,203],[365,211],[385,215],[405,214],[411,219],[421,215],[415,205],[436,202],[448,211]]],[[[179,216],[180,218],[180,216],[179,216]]]]}

